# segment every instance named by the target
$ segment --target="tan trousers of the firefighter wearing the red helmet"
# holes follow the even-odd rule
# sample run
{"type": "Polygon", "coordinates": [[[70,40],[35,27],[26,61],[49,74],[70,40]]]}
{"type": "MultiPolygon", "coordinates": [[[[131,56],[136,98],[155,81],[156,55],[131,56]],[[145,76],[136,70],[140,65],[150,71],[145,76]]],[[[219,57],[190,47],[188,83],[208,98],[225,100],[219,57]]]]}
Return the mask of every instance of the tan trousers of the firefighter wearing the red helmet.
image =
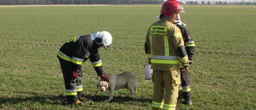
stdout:
{"type": "Polygon", "coordinates": [[[153,70],[152,110],[175,110],[180,84],[179,67],[170,71],[153,70]]]}

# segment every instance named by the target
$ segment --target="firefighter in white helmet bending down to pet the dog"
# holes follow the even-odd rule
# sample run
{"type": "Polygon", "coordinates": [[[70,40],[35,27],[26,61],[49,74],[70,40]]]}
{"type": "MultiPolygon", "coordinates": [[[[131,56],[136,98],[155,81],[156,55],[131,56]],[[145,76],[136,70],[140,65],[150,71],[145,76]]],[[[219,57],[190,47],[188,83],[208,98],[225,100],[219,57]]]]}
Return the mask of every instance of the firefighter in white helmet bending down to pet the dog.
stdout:
{"type": "Polygon", "coordinates": [[[109,32],[102,31],[74,37],[63,44],[58,52],[68,103],[83,106],[83,101],[90,101],[83,97],[82,85],[82,62],[90,59],[92,66],[104,81],[109,81],[104,74],[98,48],[106,49],[112,43],[112,36],[109,32]]]}

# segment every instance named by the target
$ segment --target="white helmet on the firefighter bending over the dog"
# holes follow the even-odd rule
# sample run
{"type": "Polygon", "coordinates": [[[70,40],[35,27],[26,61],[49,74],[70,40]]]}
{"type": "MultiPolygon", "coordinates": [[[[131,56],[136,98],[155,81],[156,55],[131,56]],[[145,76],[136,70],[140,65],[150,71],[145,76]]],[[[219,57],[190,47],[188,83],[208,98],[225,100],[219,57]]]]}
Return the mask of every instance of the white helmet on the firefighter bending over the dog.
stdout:
{"type": "Polygon", "coordinates": [[[112,43],[112,35],[107,31],[101,31],[97,33],[91,33],[92,40],[96,42],[96,44],[103,44],[103,46],[107,49],[112,43]]]}

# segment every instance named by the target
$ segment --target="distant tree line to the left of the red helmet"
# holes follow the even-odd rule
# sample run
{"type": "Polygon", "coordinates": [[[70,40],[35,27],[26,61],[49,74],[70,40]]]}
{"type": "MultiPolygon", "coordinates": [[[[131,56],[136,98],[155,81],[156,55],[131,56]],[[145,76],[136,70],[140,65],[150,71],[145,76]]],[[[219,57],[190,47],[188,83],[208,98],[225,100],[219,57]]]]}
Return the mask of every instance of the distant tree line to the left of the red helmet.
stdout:
{"type": "Polygon", "coordinates": [[[163,4],[162,0],[0,0],[0,5],[163,4]]]}

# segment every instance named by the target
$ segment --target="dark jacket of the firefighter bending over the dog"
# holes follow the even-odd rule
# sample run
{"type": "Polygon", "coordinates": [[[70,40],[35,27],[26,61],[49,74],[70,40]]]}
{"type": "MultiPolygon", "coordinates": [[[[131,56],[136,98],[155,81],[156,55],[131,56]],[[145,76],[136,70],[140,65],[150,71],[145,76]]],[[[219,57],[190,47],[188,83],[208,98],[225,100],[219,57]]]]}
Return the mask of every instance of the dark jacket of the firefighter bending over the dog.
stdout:
{"type": "Polygon", "coordinates": [[[80,68],[82,62],[90,59],[97,75],[104,74],[98,53],[98,44],[91,39],[90,35],[77,36],[65,42],[58,52],[58,57],[72,62],[74,70],[80,68]]]}

